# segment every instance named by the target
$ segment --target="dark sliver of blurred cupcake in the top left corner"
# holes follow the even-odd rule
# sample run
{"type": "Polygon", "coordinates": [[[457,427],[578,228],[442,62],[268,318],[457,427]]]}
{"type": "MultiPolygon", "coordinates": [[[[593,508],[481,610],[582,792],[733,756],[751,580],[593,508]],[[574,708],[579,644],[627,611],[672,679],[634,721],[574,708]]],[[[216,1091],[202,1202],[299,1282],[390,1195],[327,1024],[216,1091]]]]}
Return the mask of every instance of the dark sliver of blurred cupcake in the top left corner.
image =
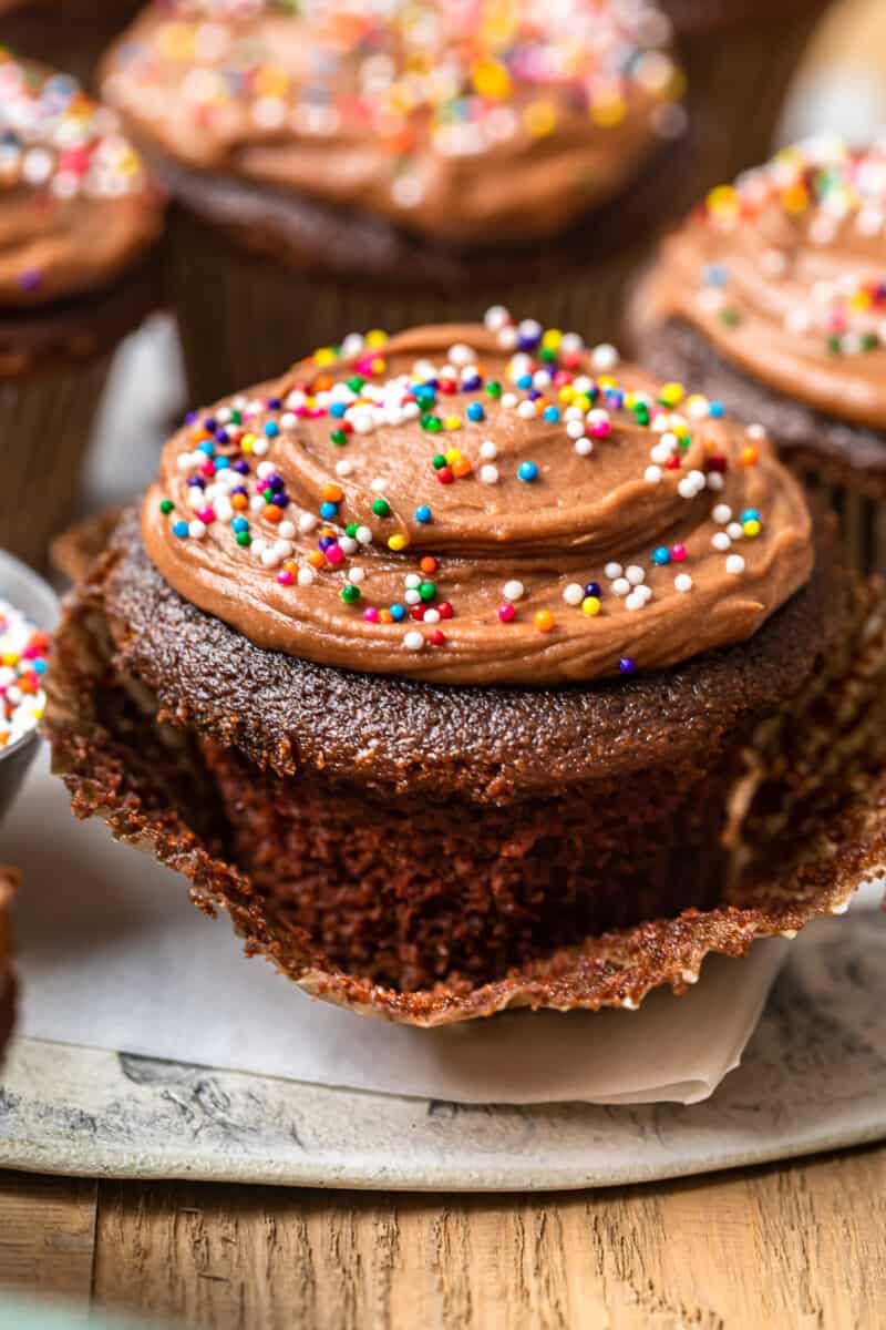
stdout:
{"type": "Polygon", "coordinates": [[[0,44],[92,82],[108,43],[139,0],[0,0],[0,44]]]}

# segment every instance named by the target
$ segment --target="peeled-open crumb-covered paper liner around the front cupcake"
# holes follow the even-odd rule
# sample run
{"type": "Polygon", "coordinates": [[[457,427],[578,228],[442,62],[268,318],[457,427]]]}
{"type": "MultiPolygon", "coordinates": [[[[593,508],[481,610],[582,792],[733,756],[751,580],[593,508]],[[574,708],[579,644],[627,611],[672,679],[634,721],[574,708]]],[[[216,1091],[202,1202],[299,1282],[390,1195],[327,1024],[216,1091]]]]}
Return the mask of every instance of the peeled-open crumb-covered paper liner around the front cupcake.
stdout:
{"type": "Polygon", "coordinates": [[[158,722],[135,680],[113,676],[108,624],[89,591],[69,604],[49,680],[53,767],[77,817],[101,817],[121,841],[190,880],[194,903],[228,912],[248,954],[262,955],[316,998],[365,1015],[438,1025],[514,1007],[635,1009],[662,986],[680,994],[709,952],[743,956],[754,938],[792,936],[842,914],[886,866],[886,596],[871,583],[866,612],[836,668],[748,746],[729,801],[735,880],[716,908],[586,938],[580,944],[465,990],[402,992],[347,974],[287,923],[228,862],[206,826],[206,773],[189,773],[187,735],[158,722]]]}

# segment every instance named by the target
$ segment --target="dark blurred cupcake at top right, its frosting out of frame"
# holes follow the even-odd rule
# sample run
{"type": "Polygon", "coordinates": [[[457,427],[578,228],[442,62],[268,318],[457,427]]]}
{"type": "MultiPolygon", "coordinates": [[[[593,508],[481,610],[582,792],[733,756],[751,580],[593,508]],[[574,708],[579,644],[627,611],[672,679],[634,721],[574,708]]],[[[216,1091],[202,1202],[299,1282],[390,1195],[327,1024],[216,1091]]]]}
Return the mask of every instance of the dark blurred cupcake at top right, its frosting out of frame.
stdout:
{"type": "Polygon", "coordinates": [[[697,126],[696,189],[764,161],[790,80],[830,0],[659,0],[697,126]]]}

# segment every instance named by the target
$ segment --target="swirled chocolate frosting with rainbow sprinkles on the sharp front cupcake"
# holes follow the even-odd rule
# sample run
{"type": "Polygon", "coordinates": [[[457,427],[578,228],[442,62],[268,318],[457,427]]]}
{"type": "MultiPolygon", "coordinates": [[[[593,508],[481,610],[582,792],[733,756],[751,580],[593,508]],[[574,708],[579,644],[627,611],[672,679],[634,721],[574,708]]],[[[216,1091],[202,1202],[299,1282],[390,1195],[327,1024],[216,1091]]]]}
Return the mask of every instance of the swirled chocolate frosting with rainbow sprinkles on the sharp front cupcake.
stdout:
{"type": "Polygon", "coordinates": [[[452,684],[672,665],[809,577],[768,442],[611,347],[514,323],[352,335],[198,412],[147,551],[259,646],[452,684]]]}

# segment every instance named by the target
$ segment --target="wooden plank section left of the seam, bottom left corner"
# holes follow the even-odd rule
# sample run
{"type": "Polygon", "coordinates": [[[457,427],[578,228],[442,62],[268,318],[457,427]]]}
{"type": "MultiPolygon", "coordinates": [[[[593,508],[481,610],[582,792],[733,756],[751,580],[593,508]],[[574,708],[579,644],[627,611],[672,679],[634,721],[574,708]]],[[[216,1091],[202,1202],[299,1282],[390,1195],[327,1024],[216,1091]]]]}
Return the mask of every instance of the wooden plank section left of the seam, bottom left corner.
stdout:
{"type": "Polygon", "coordinates": [[[97,1182],[0,1173],[0,1285],[88,1305],[97,1198],[97,1182]]]}

